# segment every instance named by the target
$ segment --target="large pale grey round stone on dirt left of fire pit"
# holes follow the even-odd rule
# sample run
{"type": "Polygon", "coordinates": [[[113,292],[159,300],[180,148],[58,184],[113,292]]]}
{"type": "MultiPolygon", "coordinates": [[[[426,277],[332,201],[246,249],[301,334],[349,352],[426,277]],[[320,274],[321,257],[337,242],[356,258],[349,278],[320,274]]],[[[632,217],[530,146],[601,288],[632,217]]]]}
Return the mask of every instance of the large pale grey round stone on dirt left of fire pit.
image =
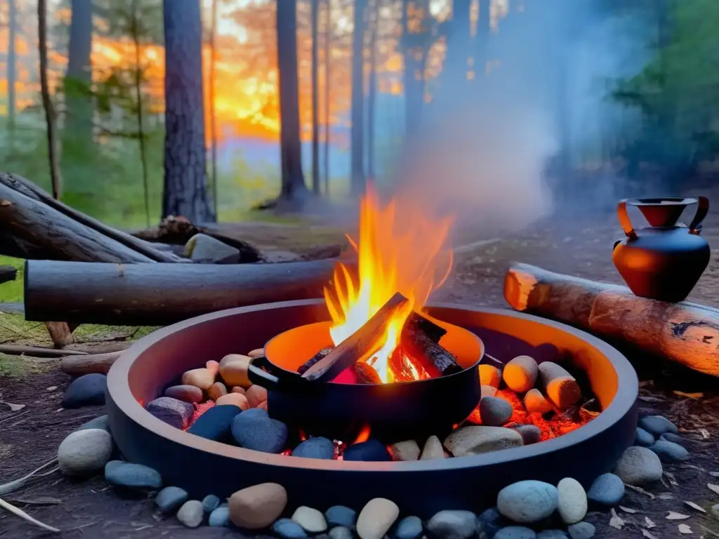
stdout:
{"type": "Polygon", "coordinates": [[[96,474],[110,460],[112,448],[112,436],[106,430],[75,430],[58,447],[58,466],[65,475],[96,474]]]}

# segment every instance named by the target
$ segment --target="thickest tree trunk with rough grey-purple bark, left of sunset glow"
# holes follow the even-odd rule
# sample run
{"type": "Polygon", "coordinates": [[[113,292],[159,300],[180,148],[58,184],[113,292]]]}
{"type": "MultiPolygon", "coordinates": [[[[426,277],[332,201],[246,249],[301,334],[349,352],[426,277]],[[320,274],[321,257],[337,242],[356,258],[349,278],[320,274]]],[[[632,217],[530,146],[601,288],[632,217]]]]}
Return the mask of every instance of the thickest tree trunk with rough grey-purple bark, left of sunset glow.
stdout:
{"type": "Polygon", "coordinates": [[[199,0],[164,0],[165,185],[162,217],[216,221],[205,170],[202,24],[199,0]]]}

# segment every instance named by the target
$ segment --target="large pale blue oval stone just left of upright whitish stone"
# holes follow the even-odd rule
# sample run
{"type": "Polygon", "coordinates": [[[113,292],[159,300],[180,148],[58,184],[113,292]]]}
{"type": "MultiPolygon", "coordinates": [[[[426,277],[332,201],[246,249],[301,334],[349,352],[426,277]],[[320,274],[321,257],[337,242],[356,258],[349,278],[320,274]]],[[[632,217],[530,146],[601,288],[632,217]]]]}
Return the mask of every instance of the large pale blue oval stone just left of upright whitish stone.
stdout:
{"type": "Polygon", "coordinates": [[[541,481],[520,481],[500,490],[497,509],[512,520],[522,524],[539,522],[549,517],[559,505],[557,487],[541,481]]]}

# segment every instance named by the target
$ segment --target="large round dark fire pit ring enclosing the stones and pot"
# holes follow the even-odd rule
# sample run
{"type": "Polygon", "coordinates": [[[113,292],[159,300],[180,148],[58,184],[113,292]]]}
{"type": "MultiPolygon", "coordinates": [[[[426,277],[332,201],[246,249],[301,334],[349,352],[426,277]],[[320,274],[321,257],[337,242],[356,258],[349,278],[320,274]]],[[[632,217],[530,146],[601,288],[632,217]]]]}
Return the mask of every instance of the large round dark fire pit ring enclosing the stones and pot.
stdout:
{"type": "Polygon", "coordinates": [[[173,428],[144,409],[183,372],[208,359],[262,348],[280,333],[329,321],[323,300],[305,300],[204,315],[156,331],[132,346],[108,377],[114,439],[129,461],[152,466],[166,484],[183,487],[196,498],[229,496],[252,484],[278,482],[287,489],[291,505],[361,507],[373,497],[387,497],[421,516],[493,505],[499,489],[521,479],[557,484],[569,476],[588,487],[633,443],[636,374],[608,344],[560,323],[504,310],[434,305],[424,312],[474,333],[486,352],[502,362],[523,354],[539,362],[571,355],[585,372],[602,413],[564,436],[529,446],[454,459],[358,462],[229,446],[173,428]]]}

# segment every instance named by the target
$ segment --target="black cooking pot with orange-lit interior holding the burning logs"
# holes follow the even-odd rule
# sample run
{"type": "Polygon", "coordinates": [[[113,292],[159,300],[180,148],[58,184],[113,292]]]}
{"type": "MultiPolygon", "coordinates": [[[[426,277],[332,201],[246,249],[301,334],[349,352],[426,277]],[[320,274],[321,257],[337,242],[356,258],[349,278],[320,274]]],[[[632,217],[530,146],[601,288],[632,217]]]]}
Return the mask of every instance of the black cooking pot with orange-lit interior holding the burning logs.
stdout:
{"type": "Polygon", "coordinates": [[[362,428],[385,443],[444,436],[467,418],[480,402],[477,366],[482,341],[459,326],[436,321],[446,329],[439,341],[464,370],[449,376],[393,384],[308,382],[297,369],[320,349],[331,346],[331,323],[293,328],[265,346],[265,357],[253,359],[249,379],[267,390],[271,417],[313,436],[351,442],[362,428]]]}

